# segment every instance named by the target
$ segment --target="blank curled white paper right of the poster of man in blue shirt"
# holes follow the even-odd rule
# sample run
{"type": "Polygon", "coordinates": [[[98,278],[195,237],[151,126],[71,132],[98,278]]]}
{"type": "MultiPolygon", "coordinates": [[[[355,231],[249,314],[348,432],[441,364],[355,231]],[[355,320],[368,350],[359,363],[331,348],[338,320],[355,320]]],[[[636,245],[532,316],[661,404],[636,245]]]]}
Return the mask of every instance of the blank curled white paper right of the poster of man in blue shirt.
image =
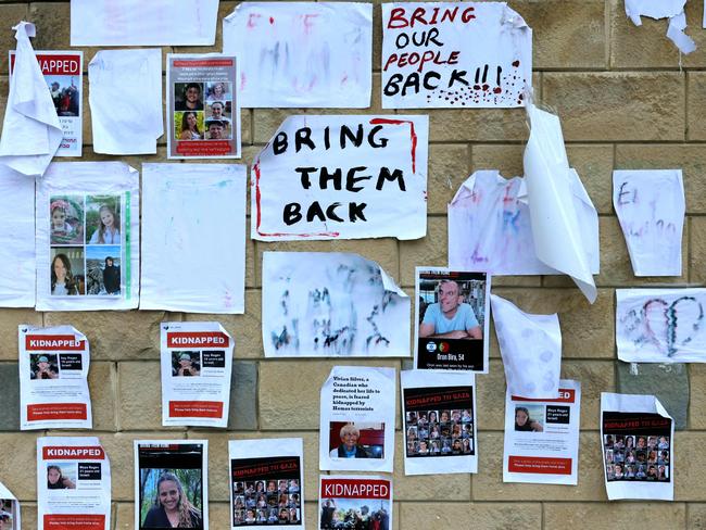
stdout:
{"type": "Polygon", "coordinates": [[[530,315],[490,295],[507,392],[521,398],[558,398],[562,373],[559,317],[530,315]]]}

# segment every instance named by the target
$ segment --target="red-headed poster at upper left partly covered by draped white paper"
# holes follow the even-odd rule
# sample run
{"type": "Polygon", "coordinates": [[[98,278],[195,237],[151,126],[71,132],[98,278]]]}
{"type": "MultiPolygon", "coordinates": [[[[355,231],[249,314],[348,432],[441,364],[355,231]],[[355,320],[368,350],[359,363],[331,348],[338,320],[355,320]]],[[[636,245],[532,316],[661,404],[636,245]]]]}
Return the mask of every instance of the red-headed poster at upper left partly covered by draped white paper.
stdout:
{"type": "MultiPolygon", "coordinates": [[[[37,62],[51,92],[64,134],[54,156],[80,156],[83,143],[83,51],[37,51],[37,62]]],[[[10,51],[10,74],[15,52],[10,51]]],[[[12,75],[10,76],[12,83],[12,75]]]]}

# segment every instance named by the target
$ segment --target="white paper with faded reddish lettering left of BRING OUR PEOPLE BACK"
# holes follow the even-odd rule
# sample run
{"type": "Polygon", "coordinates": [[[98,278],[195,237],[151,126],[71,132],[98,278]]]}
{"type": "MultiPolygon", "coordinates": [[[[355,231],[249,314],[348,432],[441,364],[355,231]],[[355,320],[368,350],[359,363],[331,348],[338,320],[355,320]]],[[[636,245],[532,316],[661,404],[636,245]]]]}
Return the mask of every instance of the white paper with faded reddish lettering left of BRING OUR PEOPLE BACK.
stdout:
{"type": "Polygon", "coordinates": [[[370,106],[369,3],[241,2],[223,21],[223,51],[242,61],[242,106],[370,106]]]}

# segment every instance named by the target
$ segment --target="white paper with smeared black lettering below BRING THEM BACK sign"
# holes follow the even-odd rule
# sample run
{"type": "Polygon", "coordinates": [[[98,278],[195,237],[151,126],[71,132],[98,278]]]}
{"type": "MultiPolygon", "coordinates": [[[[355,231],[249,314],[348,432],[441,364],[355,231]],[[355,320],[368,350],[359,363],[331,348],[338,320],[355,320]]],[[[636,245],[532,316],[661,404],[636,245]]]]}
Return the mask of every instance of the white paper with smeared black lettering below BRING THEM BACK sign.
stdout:
{"type": "Polygon", "coordinates": [[[409,298],[377,263],[340,252],[264,252],[268,357],[406,357],[409,298]]]}

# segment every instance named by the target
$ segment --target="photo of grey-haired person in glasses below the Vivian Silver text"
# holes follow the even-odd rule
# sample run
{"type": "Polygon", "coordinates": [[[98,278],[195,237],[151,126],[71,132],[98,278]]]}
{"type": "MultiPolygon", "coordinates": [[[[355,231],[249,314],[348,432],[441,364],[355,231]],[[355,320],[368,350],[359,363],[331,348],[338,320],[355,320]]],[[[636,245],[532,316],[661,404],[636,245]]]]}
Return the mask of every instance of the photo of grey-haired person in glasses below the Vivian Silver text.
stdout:
{"type": "Polygon", "coordinates": [[[384,424],[331,421],[329,456],[331,458],[383,458],[384,424]]]}

